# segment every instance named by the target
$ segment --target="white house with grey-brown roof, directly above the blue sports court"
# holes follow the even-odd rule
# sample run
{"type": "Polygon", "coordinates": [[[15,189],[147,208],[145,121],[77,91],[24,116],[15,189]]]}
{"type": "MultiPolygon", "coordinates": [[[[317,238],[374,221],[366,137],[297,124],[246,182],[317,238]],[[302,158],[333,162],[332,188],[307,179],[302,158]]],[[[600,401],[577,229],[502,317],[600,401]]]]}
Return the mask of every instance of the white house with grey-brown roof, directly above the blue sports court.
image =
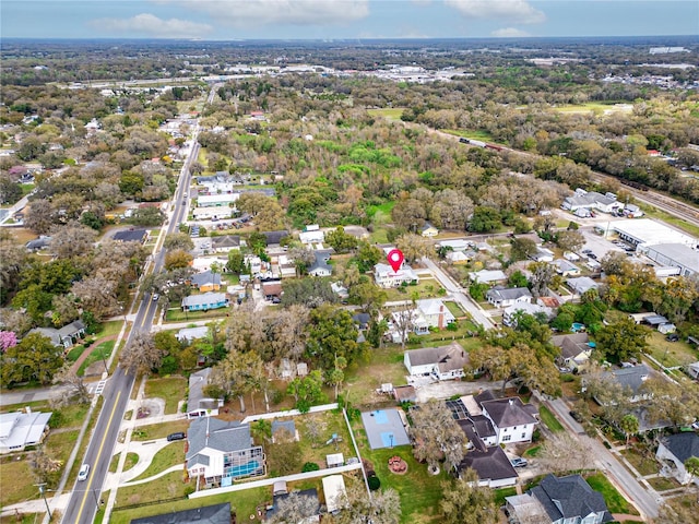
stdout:
{"type": "Polygon", "coordinates": [[[403,364],[412,377],[429,376],[436,380],[464,377],[469,354],[457,342],[441,347],[424,347],[403,354],[403,364]]]}

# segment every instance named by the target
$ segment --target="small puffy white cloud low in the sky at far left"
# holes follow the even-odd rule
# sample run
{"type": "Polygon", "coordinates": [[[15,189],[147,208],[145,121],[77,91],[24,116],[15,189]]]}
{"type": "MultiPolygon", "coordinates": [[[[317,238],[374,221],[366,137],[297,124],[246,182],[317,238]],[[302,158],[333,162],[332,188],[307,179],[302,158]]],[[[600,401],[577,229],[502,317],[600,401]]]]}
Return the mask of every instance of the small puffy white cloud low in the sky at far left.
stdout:
{"type": "Polygon", "coordinates": [[[155,38],[190,38],[204,36],[213,29],[209,24],[179,19],[163,20],[149,13],[137,14],[130,19],[92,20],[90,25],[107,33],[137,33],[155,38]]]}

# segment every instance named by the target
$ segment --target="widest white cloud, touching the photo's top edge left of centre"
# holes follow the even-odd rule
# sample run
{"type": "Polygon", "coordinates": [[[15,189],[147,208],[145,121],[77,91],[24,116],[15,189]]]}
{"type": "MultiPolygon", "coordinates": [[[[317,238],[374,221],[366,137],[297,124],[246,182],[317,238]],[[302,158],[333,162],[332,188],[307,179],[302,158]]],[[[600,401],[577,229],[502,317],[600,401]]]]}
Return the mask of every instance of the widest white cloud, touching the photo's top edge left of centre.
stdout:
{"type": "Polygon", "coordinates": [[[235,27],[343,24],[369,15],[369,0],[155,0],[185,5],[235,27]]]}

